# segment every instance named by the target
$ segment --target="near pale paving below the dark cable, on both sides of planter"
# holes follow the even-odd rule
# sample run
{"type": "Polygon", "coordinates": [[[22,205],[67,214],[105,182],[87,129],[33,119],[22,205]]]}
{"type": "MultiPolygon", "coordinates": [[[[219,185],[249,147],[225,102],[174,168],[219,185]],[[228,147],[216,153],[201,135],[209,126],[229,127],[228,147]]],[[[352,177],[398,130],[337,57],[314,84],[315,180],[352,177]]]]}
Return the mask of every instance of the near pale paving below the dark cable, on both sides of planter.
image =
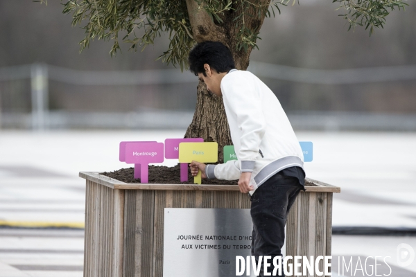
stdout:
{"type": "MultiPolygon", "coordinates": [[[[82,277],[83,236],[77,230],[0,229],[0,276],[82,277]]],[[[416,262],[409,267],[397,265],[397,246],[402,243],[415,247],[416,238],[334,235],[332,276],[375,276],[377,263],[379,276],[415,277],[416,262]]]]}

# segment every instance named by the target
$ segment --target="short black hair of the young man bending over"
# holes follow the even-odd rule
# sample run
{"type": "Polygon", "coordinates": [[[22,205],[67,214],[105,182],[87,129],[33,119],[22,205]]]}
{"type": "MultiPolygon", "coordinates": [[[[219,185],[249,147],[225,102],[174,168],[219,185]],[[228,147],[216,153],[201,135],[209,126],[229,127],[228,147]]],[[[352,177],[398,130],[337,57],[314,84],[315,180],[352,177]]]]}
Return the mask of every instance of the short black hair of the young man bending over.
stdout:
{"type": "Polygon", "coordinates": [[[235,69],[234,59],[229,48],[221,42],[200,42],[189,53],[189,70],[198,76],[198,73],[207,76],[204,64],[209,64],[217,73],[228,72],[235,69]]]}

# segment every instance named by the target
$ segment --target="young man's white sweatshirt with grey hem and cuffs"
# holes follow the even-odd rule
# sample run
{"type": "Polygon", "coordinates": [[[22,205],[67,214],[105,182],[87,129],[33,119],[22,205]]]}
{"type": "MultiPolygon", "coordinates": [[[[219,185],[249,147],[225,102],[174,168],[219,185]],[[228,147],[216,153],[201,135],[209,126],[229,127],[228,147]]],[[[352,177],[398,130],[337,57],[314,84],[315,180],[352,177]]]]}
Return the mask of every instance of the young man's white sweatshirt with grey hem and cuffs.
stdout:
{"type": "Polygon", "coordinates": [[[232,69],[221,80],[221,92],[238,160],[208,165],[208,178],[235,180],[241,172],[252,172],[255,190],[284,168],[303,168],[299,141],[266,84],[249,71],[232,69]]]}

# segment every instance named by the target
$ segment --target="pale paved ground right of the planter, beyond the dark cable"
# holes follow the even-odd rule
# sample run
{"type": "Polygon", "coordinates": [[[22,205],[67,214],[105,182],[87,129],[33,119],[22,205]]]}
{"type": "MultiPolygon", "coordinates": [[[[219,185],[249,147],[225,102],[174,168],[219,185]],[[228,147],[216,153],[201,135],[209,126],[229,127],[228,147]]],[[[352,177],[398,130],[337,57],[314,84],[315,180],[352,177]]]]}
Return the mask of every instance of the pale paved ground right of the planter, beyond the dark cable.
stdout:
{"type": "Polygon", "coordinates": [[[333,226],[416,227],[416,134],[302,133],[313,179],[340,186],[333,226]]]}

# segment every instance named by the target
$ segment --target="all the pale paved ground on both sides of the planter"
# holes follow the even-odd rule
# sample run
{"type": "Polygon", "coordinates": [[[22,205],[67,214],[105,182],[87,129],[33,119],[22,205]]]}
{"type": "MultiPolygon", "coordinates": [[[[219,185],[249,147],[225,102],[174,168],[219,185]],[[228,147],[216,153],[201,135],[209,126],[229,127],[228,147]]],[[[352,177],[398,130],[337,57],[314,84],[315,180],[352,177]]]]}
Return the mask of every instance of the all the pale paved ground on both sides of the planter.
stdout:
{"type": "MultiPolygon", "coordinates": [[[[118,161],[119,141],[183,134],[1,131],[0,225],[82,227],[85,185],[79,171],[127,166],[118,161]]],[[[342,188],[334,196],[334,226],[416,228],[416,134],[303,132],[298,139],[314,143],[308,177],[342,188]]],[[[391,256],[390,276],[416,276],[416,261],[397,267],[401,243],[416,250],[415,237],[337,235],[334,261],[353,257],[355,267],[358,257],[391,256]]],[[[82,267],[83,231],[0,229],[0,277],[82,276],[82,267]]],[[[388,267],[382,270],[389,273],[388,267]]]]}

